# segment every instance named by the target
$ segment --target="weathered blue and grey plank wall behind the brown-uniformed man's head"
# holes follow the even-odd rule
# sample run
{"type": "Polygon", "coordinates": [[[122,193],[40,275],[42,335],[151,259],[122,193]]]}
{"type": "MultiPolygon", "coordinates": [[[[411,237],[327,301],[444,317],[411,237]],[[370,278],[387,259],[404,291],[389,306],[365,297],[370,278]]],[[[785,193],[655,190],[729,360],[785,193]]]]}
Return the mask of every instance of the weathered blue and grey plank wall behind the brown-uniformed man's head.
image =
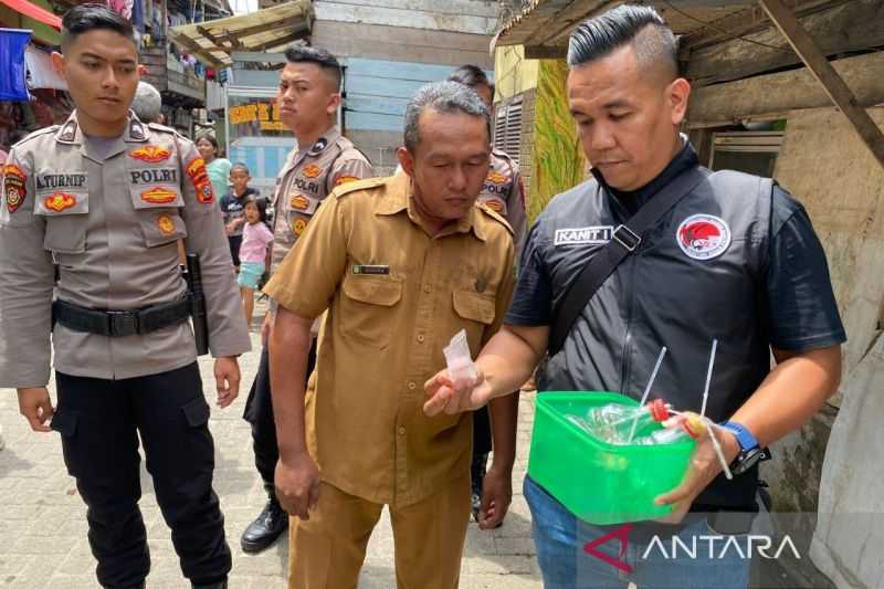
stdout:
{"type": "Polygon", "coordinates": [[[420,86],[465,63],[493,78],[493,1],[317,0],[314,6],[312,44],[345,63],[345,134],[378,175],[398,164],[406,104],[420,86]]]}

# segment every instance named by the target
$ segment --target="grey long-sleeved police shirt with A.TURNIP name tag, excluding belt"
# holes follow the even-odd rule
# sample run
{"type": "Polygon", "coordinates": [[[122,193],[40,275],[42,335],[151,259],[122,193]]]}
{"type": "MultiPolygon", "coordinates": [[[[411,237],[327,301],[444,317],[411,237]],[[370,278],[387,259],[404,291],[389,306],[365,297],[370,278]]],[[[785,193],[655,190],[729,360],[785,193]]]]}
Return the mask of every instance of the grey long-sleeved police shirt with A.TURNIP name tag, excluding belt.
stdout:
{"type": "MultiPolygon", "coordinates": [[[[0,387],[49,382],[53,257],[60,299],[138,309],[185,296],[179,238],[200,255],[212,354],[250,349],[221,211],[191,141],[135,118],[123,136],[95,141],[74,113],[19,143],[3,171],[0,387]]],[[[164,372],[197,357],[188,322],[125,337],[56,324],[52,343],[57,371],[104,379],[164,372]]]]}

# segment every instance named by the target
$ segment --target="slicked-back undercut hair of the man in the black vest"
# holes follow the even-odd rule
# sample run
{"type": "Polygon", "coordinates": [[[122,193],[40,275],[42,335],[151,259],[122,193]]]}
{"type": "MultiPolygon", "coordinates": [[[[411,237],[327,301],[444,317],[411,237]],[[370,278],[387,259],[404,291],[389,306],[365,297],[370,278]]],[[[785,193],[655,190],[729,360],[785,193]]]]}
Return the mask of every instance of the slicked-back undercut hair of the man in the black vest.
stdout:
{"type": "Polygon", "coordinates": [[[656,10],[638,4],[621,4],[578,27],[568,42],[568,66],[606,57],[629,44],[639,66],[659,67],[671,80],[678,76],[675,33],[656,10]]]}

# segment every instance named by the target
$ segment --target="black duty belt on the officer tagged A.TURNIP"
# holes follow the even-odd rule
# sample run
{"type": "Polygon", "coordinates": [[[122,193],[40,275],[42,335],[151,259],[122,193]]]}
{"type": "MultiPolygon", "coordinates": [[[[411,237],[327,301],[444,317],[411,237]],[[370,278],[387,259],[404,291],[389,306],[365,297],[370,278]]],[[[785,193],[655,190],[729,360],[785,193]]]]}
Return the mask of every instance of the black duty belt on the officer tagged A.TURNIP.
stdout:
{"type": "Polygon", "coordinates": [[[101,311],[55,301],[52,320],[74,332],[86,332],[108,337],[149,334],[164,327],[178,325],[190,317],[190,299],[161,303],[136,311],[101,311]]]}

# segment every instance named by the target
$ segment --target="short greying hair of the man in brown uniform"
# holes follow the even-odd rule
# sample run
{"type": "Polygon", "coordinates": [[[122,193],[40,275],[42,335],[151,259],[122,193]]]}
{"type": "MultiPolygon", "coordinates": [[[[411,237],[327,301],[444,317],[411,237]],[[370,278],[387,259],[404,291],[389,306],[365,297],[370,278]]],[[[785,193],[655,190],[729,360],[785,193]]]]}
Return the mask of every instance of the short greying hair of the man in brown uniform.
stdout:
{"type": "Polygon", "coordinates": [[[459,82],[431,82],[421,86],[406,107],[404,143],[411,154],[417,152],[421,143],[418,122],[427,108],[438,113],[463,113],[482,117],[491,141],[491,114],[476,91],[459,82]]]}

